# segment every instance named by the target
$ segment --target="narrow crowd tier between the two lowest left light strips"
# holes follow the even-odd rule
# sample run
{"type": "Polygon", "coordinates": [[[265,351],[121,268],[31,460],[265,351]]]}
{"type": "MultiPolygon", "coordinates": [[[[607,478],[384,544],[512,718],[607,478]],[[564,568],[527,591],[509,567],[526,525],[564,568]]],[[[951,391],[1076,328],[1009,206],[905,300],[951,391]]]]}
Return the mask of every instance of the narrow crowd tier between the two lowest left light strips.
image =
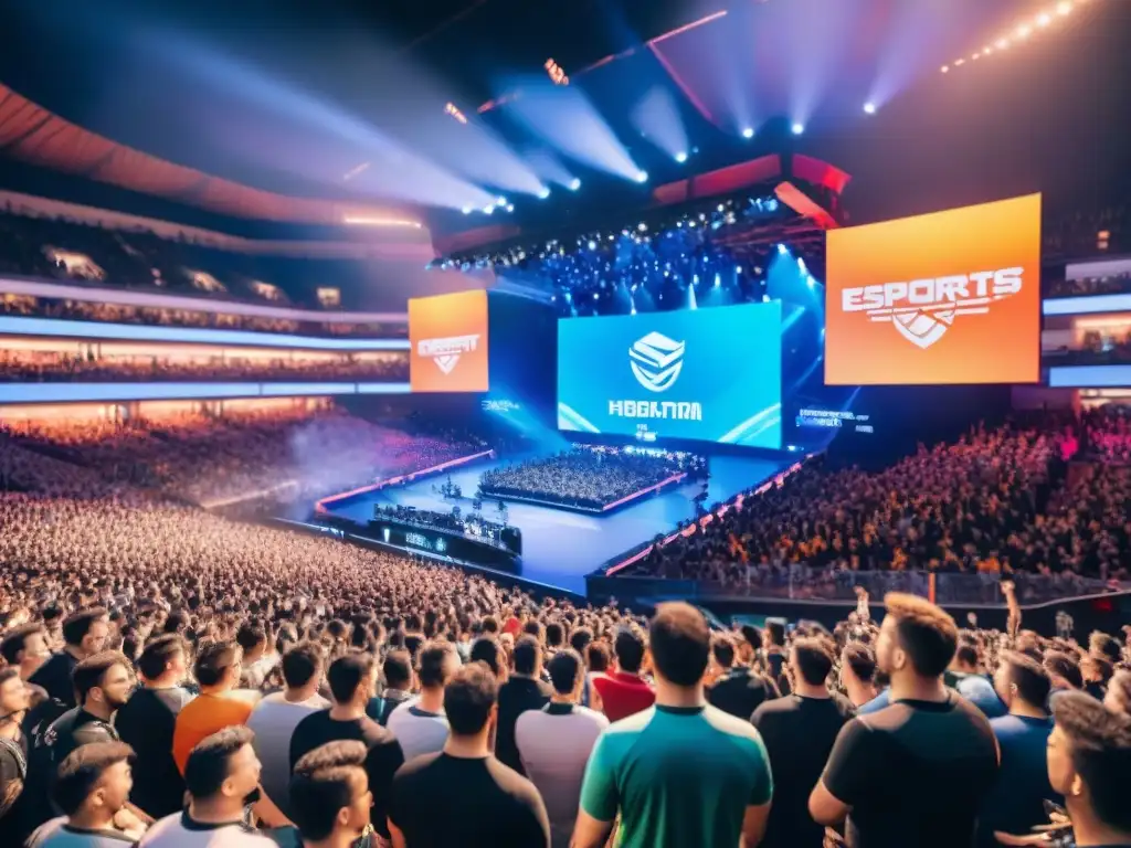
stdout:
{"type": "Polygon", "coordinates": [[[0,381],[8,382],[164,382],[171,380],[404,381],[408,357],[402,353],[354,358],[251,360],[216,356],[208,361],[164,356],[80,356],[0,351],[0,381]]]}

